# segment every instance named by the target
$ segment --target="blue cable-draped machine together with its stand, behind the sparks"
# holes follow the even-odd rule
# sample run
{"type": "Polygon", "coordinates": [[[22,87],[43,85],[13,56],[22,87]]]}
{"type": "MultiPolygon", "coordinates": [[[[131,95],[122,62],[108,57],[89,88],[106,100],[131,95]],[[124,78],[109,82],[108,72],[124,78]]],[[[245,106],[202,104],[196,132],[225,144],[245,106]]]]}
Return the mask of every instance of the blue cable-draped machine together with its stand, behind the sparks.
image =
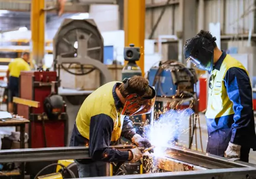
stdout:
{"type": "MultiPolygon", "coordinates": [[[[196,94],[198,78],[195,69],[188,69],[176,60],[160,61],[158,66],[153,66],[148,72],[148,80],[150,85],[155,86],[157,93],[155,107],[158,112],[154,116],[156,120],[169,109],[191,108],[192,106],[195,113],[190,116],[188,126],[188,148],[191,148],[197,122],[200,128],[196,94]]],[[[178,134],[174,141],[178,142],[178,134]]],[[[202,141],[201,150],[203,151],[202,141]]]]}

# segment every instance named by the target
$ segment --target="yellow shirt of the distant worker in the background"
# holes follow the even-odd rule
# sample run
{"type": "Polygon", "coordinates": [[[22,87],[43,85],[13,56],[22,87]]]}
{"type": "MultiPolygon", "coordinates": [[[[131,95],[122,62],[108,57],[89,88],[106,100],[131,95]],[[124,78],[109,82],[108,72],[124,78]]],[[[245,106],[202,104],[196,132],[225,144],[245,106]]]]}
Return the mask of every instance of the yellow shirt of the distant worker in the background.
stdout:
{"type": "Polygon", "coordinates": [[[21,71],[30,71],[30,66],[24,59],[15,58],[9,63],[8,70],[10,76],[18,78],[21,71]]]}

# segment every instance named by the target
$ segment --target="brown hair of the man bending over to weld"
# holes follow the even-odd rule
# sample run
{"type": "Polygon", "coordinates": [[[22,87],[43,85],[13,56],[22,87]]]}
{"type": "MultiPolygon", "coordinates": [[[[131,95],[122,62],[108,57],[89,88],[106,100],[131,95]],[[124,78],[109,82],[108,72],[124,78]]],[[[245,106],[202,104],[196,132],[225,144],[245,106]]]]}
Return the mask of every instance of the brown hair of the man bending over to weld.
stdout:
{"type": "Polygon", "coordinates": [[[146,98],[151,97],[153,93],[152,89],[148,86],[148,80],[141,76],[133,76],[129,79],[129,85],[126,89],[124,88],[124,83],[120,84],[118,89],[124,98],[134,93],[146,98]]]}

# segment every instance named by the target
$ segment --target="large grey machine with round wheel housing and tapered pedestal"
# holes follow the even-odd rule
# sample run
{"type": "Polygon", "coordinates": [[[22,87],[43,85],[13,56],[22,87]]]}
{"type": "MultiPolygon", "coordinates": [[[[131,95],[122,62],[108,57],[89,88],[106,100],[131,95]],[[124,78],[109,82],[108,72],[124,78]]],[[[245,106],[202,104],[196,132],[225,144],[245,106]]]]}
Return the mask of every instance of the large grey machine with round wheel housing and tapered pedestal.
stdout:
{"type": "MultiPolygon", "coordinates": [[[[66,80],[62,72],[84,76],[96,69],[100,71],[100,84],[112,81],[112,75],[103,64],[103,38],[93,19],[65,19],[53,39],[54,69],[59,79],[66,80]],[[90,65],[92,68],[86,68],[90,65]]],[[[91,79],[93,80],[93,79],[91,79]]],[[[59,88],[59,95],[67,105],[69,116],[68,140],[80,105],[92,91],[59,88]]],[[[69,141],[68,141],[69,143],[69,141]]]]}

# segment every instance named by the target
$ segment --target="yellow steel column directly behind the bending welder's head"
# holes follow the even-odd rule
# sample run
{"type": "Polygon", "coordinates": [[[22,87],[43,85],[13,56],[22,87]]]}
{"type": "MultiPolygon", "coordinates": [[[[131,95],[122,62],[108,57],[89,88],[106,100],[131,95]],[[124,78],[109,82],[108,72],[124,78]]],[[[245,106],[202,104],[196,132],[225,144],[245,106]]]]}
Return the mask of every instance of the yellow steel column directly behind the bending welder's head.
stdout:
{"type": "Polygon", "coordinates": [[[145,0],[124,0],[124,44],[134,43],[140,47],[140,66],[144,75],[145,0]]]}

